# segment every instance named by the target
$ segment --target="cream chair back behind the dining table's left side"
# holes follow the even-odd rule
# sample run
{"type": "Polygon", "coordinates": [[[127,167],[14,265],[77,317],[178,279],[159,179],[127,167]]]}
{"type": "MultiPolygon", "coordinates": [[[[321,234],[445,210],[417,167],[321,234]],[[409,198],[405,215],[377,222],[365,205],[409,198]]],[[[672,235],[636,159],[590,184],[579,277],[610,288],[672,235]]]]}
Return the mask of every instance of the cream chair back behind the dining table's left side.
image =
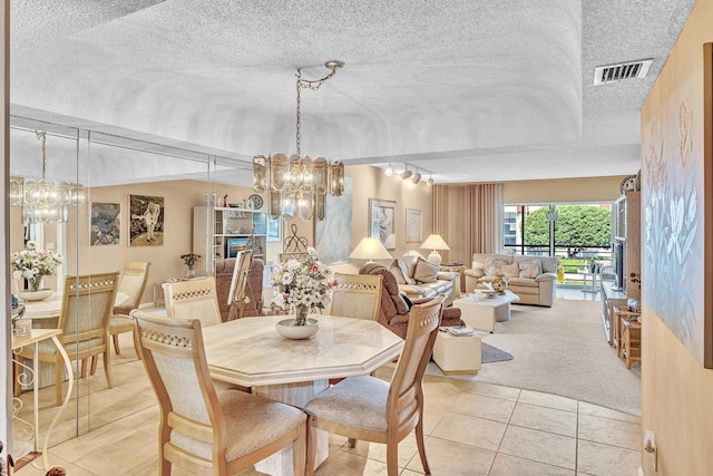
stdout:
{"type": "Polygon", "coordinates": [[[172,319],[201,319],[204,327],[222,322],[215,278],[164,283],[166,314],[172,319]]]}

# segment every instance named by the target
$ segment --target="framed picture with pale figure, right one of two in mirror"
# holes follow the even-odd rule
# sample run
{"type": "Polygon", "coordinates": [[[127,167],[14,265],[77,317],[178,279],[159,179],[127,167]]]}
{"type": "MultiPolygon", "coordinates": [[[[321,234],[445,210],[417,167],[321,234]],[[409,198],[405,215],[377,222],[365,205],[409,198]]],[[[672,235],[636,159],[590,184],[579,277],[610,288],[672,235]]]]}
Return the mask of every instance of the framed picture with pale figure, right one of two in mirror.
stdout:
{"type": "Polygon", "coordinates": [[[129,246],[164,244],[164,197],[129,195],[129,246]]]}

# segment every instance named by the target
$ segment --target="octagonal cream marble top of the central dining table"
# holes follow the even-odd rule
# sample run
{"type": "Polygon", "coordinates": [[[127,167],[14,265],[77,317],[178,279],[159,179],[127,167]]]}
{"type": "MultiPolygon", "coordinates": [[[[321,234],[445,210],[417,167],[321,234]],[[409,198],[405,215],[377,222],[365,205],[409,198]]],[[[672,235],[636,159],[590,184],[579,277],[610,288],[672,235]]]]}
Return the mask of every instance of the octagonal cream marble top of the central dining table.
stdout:
{"type": "Polygon", "coordinates": [[[375,321],[310,315],[320,331],[285,339],[275,323],[289,315],[243,318],[203,328],[211,376],[246,387],[367,375],[401,353],[403,340],[375,321]]]}

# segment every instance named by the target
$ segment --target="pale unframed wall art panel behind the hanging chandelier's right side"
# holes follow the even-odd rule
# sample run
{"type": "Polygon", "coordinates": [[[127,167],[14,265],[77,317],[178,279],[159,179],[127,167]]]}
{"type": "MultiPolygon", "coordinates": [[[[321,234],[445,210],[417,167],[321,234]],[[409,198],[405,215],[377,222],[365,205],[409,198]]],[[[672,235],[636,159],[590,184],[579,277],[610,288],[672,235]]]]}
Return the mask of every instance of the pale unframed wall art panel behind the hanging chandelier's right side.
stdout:
{"type": "Polygon", "coordinates": [[[352,196],[354,179],[344,178],[341,196],[326,195],[323,221],[314,223],[314,249],[326,264],[349,260],[352,240],[352,196]]]}

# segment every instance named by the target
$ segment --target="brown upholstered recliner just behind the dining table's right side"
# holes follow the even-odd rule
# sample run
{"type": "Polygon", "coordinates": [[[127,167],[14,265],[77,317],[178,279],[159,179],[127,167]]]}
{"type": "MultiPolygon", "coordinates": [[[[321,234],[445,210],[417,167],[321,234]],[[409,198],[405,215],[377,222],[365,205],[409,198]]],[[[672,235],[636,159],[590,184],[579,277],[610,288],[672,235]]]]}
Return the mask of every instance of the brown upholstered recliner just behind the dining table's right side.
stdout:
{"type": "MultiPolygon", "coordinates": [[[[399,291],[399,283],[393,273],[385,266],[378,263],[367,263],[359,270],[359,274],[381,275],[383,291],[381,293],[381,304],[379,309],[379,323],[391,332],[406,339],[409,327],[409,304],[399,291]]],[[[414,304],[429,302],[433,298],[421,298],[411,300],[414,304]]],[[[443,308],[441,326],[463,326],[460,319],[460,309],[443,308]]]]}

